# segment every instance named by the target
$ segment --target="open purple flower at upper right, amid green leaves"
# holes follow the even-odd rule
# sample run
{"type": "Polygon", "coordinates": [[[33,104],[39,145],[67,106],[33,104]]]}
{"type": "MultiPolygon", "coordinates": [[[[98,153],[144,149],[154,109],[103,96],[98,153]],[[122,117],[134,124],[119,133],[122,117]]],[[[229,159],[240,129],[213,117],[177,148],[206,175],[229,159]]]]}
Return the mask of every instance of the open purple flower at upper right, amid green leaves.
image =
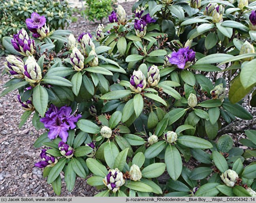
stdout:
{"type": "Polygon", "coordinates": [[[175,64],[180,69],[184,69],[186,62],[191,62],[195,59],[196,53],[189,49],[189,47],[181,48],[177,52],[173,51],[171,57],[169,57],[169,62],[175,64]]]}

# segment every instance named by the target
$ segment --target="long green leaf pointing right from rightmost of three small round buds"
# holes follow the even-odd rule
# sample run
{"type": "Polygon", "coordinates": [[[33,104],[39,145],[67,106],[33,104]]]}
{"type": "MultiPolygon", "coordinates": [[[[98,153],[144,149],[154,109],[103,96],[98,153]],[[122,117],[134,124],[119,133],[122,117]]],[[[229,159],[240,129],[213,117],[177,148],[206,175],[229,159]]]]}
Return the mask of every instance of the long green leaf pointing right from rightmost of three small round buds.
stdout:
{"type": "Polygon", "coordinates": [[[178,137],[177,142],[181,143],[186,147],[196,149],[208,149],[213,147],[213,145],[209,141],[200,137],[194,137],[190,135],[183,135],[178,137]]]}

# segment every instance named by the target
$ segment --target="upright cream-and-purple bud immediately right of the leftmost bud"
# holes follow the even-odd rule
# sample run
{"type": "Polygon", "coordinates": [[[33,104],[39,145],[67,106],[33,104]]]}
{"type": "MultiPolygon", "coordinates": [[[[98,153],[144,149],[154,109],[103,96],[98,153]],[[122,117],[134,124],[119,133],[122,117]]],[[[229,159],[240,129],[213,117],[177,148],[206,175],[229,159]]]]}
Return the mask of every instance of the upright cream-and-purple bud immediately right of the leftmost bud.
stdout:
{"type": "Polygon", "coordinates": [[[28,56],[23,67],[23,74],[25,75],[25,80],[29,83],[39,83],[42,79],[41,68],[33,56],[28,56]]]}

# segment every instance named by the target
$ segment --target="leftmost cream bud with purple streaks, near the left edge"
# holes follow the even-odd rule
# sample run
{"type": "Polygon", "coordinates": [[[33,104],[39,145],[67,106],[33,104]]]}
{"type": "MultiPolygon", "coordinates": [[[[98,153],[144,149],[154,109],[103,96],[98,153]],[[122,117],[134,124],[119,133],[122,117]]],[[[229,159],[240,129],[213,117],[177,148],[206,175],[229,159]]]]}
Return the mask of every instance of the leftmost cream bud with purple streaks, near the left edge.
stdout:
{"type": "Polygon", "coordinates": [[[13,55],[8,55],[6,57],[6,62],[4,63],[5,70],[13,75],[13,77],[17,77],[20,79],[24,78],[22,70],[24,68],[24,62],[21,58],[13,55]]]}

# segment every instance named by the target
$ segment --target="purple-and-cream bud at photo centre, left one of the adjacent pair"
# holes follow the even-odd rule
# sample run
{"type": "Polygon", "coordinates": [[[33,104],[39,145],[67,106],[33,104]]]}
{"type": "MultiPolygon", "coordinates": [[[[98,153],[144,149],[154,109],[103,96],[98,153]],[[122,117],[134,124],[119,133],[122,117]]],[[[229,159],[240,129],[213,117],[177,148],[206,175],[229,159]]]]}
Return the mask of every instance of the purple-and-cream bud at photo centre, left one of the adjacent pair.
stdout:
{"type": "Polygon", "coordinates": [[[146,79],[141,70],[134,70],[132,77],[130,78],[130,88],[134,92],[141,92],[146,86],[146,79]]]}

